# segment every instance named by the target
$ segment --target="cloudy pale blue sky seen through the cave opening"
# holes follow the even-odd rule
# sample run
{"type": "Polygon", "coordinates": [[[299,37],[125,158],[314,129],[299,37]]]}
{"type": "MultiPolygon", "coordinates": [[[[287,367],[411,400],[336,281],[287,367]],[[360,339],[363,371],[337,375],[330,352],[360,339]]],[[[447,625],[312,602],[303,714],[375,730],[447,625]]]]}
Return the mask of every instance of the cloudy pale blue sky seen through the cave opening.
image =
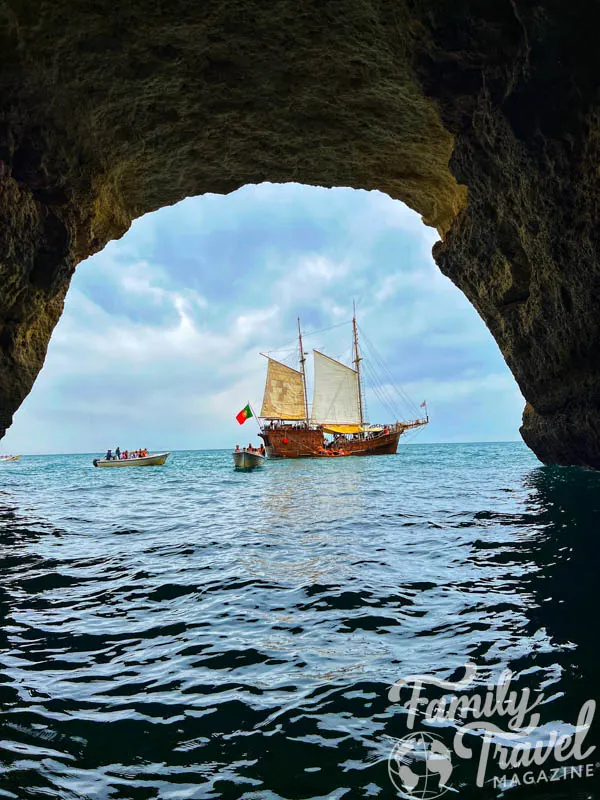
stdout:
{"type": "MultiPolygon", "coordinates": [[[[78,266],[0,448],[257,443],[255,421],[240,428],[235,415],[247,402],[260,408],[259,353],[295,366],[300,316],[305,350],[349,359],[353,301],[371,422],[410,418],[426,400],[430,424],[415,442],[517,440],[524,400],[482,320],[436,267],[436,239],[380,192],[299,184],[147,214],[78,266]],[[380,384],[397,404],[382,403],[380,384]]],[[[310,359],[307,368],[310,394],[310,359]]]]}

